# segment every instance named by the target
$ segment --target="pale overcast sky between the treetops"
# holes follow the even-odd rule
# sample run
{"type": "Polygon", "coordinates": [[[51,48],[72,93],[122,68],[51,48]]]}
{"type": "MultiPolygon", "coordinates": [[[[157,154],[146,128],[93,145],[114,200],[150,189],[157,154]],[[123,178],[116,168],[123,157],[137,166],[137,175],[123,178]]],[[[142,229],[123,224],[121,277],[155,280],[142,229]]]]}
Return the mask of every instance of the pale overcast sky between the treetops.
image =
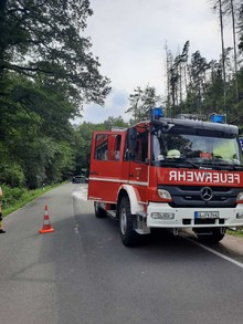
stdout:
{"type": "MultiPolygon", "coordinates": [[[[221,54],[220,23],[210,0],[91,0],[94,14],[85,35],[99,58],[101,73],[112,81],[105,106],[84,106],[81,122],[103,123],[109,116],[129,116],[128,96],[137,86],[155,86],[165,95],[166,51],[176,56],[190,41],[190,54],[200,51],[208,61],[221,54]]],[[[225,48],[232,46],[231,25],[225,48]]]]}

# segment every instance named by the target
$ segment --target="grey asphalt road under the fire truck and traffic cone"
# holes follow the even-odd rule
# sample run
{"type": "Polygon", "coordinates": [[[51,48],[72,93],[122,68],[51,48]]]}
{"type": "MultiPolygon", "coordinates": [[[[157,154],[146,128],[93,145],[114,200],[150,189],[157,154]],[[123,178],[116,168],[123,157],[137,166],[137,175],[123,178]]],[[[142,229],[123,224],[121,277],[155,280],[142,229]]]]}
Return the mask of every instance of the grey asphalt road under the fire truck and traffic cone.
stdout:
{"type": "Polygon", "coordinates": [[[125,248],[85,186],[59,187],[4,219],[1,324],[243,323],[241,240],[205,250],[162,232],[125,248]],[[40,234],[45,205],[54,232],[40,234]]]}

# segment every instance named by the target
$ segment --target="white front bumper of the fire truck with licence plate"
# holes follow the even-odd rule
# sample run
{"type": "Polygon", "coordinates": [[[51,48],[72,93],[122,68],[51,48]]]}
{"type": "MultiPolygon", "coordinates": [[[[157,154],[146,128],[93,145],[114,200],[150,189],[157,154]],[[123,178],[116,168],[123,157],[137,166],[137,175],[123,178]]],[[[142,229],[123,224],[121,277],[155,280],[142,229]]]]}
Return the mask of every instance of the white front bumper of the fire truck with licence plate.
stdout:
{"type": "Polygon", "coordinates": [[[243,226],[243,205],[235,208],[171,208],[168,203],[149,202],[149,228],[212,228],[243,226]]]}

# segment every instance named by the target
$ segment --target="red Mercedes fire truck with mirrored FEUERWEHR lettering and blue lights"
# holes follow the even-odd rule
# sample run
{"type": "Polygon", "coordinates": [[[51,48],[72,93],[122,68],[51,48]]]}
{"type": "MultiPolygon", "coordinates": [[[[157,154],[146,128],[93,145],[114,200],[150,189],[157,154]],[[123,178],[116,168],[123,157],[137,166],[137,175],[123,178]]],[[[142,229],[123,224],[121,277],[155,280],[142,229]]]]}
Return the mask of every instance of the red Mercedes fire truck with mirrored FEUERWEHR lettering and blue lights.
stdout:
{"type": "Polygon", "coordinates": [[[191,228],[218,242],[243,226],[243,157],[236,126],[223,116],[151,118],[128,129],[94,132],[88,199],[97,218],[119,220],[131,247],[152,228],[191,228]]]}

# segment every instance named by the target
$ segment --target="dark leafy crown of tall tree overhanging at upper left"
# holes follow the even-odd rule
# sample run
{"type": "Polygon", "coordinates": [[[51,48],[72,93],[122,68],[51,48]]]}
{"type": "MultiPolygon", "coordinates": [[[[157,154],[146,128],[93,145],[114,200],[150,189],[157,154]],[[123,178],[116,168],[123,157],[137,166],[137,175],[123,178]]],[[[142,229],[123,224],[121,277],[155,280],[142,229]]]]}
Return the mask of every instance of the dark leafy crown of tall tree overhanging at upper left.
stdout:
{"type": "Polygon", "coordinates": [[[96,102],[109,92],[91,41],[82,36],[88,0],[7,0],[0,7],[0,77],[4,71],[66,84],[78,102],[96,102]]]}

